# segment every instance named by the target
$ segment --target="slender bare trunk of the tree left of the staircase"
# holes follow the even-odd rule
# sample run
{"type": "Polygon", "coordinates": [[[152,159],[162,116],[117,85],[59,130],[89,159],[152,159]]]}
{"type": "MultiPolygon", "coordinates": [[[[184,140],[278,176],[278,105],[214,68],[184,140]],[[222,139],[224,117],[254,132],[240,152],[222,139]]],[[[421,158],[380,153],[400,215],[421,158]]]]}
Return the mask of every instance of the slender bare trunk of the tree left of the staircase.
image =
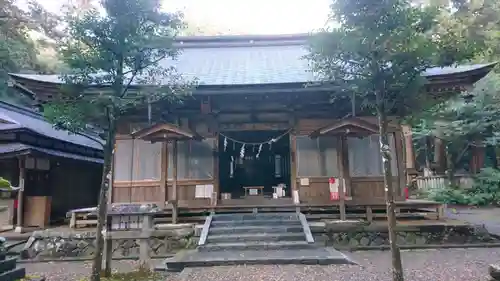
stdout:
{"type": "MultiPolygon", "coordinates": [[[[99,203],[97,206],[97,228],[96,228],[96,251],[92,261],[92,273],[90,281],[99,281],[102,270],[102,256],[104,250],[104,237],[102,231],[106,222],[108,209],[108,190],[111,184],[111,161],[115,144],[116,128],[114,116],[108,113],[109,130],[107,133],[106,144],[104,145],[104,166],[102,170],[101,191],[99,193],[99,203]]],[[[107,274],[109,274],[108,272],[107,274]]]]}

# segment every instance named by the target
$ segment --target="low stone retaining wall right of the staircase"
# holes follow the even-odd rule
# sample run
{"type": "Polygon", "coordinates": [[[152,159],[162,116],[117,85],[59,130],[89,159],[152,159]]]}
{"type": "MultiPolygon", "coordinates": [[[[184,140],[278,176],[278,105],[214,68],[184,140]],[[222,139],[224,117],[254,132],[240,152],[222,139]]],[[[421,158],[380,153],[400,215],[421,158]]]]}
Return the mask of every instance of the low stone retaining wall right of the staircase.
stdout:
{"type": "MultiPolygon", "coordinates": [[[[381,247],[389,245],[387,225],[367,225],[363,222],[330,222],[324,233],[315,233],[315,239],[338,249],[381,247]]],[[[469,225],[398,226],[397,243],[400,246],[446,244],[498,243],[483,227],[469,225]]]]}

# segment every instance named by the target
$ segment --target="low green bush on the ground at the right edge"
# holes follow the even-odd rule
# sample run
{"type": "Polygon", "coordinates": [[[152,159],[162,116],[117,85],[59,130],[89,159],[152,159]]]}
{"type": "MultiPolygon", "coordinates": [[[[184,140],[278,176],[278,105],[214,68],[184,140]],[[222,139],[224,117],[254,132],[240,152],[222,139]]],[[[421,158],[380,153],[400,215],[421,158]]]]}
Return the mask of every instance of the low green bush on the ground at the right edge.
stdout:
{"type": "Polygon", "coordinates": [[[456,205],[500,205],[500,170],[484,168],[474,177],[471,189],[450,186],[428,190],[427,197],[437,202],[456,205]]]}

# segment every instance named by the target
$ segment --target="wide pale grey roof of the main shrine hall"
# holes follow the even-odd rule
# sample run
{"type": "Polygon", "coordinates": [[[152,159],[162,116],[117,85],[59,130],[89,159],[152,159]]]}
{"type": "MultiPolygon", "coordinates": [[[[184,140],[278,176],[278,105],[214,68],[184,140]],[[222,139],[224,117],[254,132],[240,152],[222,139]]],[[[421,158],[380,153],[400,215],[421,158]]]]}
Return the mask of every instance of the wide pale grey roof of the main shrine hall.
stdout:
{"type": "MultiPolygon", "coordinates": [[[[164,66],[175,66],[187,79],[197,78],[201,85],[251,85],[304,83],[316,80],[303,58],[307,54],[306,37],[298,35],[221,36],[179,38],[181,54],[175,61],[166,59],[164,66]],[[182,44],[181,44],[182,42],[182,44]]],[[[427,77],[468,72],[488,64],[435,67],[426,70],[427,77]]],[[[11,74],[31,80],[61,83],[57,75],[11,74]]]]}

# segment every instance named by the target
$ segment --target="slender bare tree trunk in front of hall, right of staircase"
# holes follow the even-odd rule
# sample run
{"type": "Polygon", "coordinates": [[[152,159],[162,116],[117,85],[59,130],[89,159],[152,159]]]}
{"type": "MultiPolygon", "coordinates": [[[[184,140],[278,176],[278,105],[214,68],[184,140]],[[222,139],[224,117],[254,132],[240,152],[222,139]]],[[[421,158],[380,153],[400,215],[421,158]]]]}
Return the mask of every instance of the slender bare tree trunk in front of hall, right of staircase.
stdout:
{"type": "Polygon", "coordinates": [[[401,253],[396,243],[396,204],[394,202],[394,189],[392,184],[391,170],[391,148],[387,137],[387,116],[385,108],[381,103],[377,106],[378,125],[380,134],[380,153],[384,170],[385,199],[387,204],[387,221],[389,232],[389,244],[392,254],[392,280],[404,281],[401,253]]]}

